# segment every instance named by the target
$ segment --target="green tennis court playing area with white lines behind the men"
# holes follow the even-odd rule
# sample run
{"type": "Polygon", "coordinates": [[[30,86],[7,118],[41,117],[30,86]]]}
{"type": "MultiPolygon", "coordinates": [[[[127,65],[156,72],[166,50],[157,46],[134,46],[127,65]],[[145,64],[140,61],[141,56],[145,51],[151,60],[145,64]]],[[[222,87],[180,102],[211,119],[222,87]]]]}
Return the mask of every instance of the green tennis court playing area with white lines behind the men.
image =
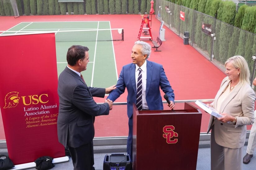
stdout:
{"type": "Polygon", "coordinates": [[[89,63],[87,70],[81,73],[88,86],[105,88],[117,82],[115,53],[111,40],[119,40],[122,36],[117,29],[111,30],[110,28],[109,21],[22,22],[8,31],[17,31],[11,33],[56,32],[58,76],[67,65],[68,48],[72,45],[87,46],[89,48],[89,63]]]}

